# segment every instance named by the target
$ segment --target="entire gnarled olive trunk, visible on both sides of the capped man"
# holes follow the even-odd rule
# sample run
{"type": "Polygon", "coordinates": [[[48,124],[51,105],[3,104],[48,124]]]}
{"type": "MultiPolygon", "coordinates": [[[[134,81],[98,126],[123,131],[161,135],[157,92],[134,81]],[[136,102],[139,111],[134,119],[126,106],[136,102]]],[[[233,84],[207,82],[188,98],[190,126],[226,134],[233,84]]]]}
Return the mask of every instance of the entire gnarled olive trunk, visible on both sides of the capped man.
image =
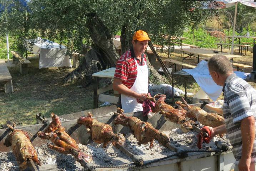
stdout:
{"type": "MultiPolygon", "coordinates": [[[[79,80],[84,86],[91,83],[93,73],[115,67],[116,61],[120,58],[116,52],[112,36],[100,19],[96,15],[91,15],[87,23],[89,23],[87,27],[89,28],[90,37],[94,44],[92,44],[89,52],[84,55],[84,59],[80,60],[80,65],[64,78],[64,81],[67,82],[79,80]]],[[[120,38],[123,53],[130,49],[131,40],[132,33],[128,31],[127,24],[125,24],[121,29],[120,38]]],[[[168,84],[168,80],[158,74],[149,60],[147,61],[152,74],[150,78],[153,78],[153,82],[168,84]]]]}

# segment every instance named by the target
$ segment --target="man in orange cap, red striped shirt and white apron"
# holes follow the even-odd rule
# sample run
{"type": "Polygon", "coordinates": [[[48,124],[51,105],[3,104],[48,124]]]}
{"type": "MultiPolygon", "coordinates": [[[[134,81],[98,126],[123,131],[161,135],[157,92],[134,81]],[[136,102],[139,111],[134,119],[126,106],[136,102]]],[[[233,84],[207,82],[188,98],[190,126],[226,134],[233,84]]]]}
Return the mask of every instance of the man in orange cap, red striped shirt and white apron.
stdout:
{"type": "Polygon", "coordinates": [[[148,69],[145,50],[150,41],[146,32],[136,31],[132,39],[132,47],[117,61],[113,89],[121,96],[119,103],[124,112],[142,111],[143,101],[148,93],[148,69]]]}

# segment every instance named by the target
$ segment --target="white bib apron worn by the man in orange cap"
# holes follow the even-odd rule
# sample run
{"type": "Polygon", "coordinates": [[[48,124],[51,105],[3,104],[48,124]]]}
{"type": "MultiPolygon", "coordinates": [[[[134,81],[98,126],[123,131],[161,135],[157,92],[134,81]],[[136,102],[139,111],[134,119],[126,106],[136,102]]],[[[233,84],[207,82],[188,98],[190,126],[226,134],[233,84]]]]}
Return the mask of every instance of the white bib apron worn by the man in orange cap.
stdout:
{"type": "MultiPolygon", "coordinates": [[[[137,65],[137,77],[130,90],[136,93],[148,93],[149,73],[147,70],[147,65],[138,65],[136,59],[135,62],[137,65]]],[[[135,97],[121,94],[121,103],[122,109],[125,113],[143,110],[142,103],[138,103],[135,97]]]]}

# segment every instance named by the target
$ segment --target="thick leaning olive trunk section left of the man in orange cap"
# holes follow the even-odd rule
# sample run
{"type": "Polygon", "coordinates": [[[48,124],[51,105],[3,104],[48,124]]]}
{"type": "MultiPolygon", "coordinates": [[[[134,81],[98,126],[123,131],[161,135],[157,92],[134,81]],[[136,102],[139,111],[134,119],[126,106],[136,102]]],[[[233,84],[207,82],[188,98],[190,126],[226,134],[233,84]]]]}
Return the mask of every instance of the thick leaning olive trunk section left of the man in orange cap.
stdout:
{"type": "Polygon", "coordinates": [[[91,15],[87,21],[92,41],[92,49],[84,55],[80,65],[65,76],[64,81],[80,80],[87,86],[92,81],[92,74],[115,67],[119,55],[116,53],[112,37],[107,28],[96,15],[91,15]]]}

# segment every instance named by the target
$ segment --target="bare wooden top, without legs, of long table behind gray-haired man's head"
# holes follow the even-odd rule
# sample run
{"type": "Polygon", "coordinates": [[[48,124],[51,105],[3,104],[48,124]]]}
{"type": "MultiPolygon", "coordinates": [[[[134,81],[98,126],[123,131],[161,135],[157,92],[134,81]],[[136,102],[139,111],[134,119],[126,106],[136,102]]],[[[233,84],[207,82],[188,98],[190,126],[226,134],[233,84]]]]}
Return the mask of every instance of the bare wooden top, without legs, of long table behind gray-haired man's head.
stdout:
{"type": "Polygon", "coordinates": [[[187,54],[194,54],[194,55],[200,55],[201,57],[212,57],[213,55],[224,55],[227,58],[239,58],[242,57],[241,55],[233,55],[233,54],[227,54],[223,52],[219,53],[213,53],[214,50],[207,50],[207,49],[200,49],[200,48],[185,48],[185,49],[180,49],[182,52],[187,53],[187,54]]]}

